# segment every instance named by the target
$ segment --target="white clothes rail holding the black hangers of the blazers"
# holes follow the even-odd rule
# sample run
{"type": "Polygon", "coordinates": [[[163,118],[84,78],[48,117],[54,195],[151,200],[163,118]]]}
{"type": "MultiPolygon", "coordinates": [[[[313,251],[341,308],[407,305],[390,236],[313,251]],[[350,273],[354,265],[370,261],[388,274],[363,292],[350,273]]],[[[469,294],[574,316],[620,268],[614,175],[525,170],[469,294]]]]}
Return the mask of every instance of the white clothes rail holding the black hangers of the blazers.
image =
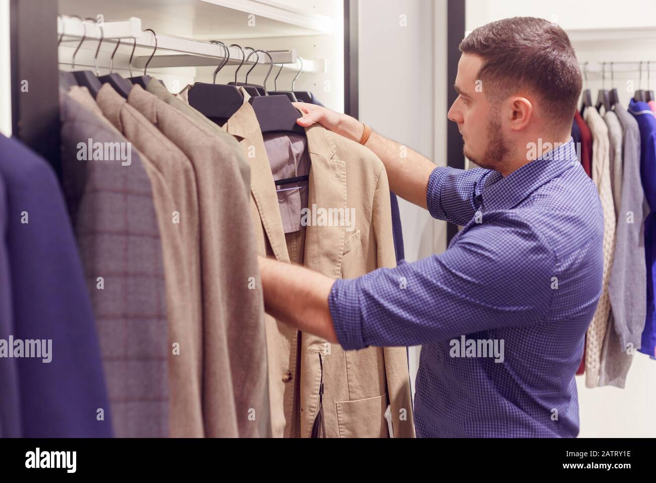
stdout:
{"type": "MultiPolygon", "coordinates": [[[[174,35],[160,34],[157,32],[155,35],[152,32],[144,32],[142,30],[142,22],[140,18],[131,17],[128,20],[119,20],[112,22],[96,23],[95,20],[86,19],[81,20],[75,16],[60,16],[57,18],[57,34],[63,35],[61,45],[77,45],[79,39],[83,37],[86,40],[100,41],[100,51],[112,52],[117,40],[124,40],[121,42],[121,49],[130,52],[133,47],[141,47],[149,49],[148,55],[135,55],[131,65],[134,68],[144,68],[148,64],[149,68],[158,67],[201,67],[201,66],[216,66],[224,58],[225,50],[221,45],[209,43],[209,41],[201,41],[195,39],[188,39],[184,37],[176,37],[174,35]],[[152,49],[157,48],[154,57],[148,62],[152,55],[152,49]],[[176,54],[173,55],[156,55],[159,51],[169,51],[176,54]]],[[[228,42],[226,42],[228,43],[228,42]]],[[[87,45],[87,48],[93,50],[98,47],[98,43],[94,42],[87,45]]],[[[242,53],[238,47],[228,47],[230,57],[227,65],[239,65],[243,59],[242,53]]],[[[270,53],[274,64],[283,64],[283,68],[290,68],[298,71],[297,53],[296,49],[288,50],[274,50],[268,51],[270,53]]],[[[246,57],[249,51],[245,51],[246,57]]],[[[269,58],[266,55],[251,56],[249,64],[269,64],[269,58]]],[[[302,59],[301,72],[315,72],[316,62],[310,59],[302,59]]]]}

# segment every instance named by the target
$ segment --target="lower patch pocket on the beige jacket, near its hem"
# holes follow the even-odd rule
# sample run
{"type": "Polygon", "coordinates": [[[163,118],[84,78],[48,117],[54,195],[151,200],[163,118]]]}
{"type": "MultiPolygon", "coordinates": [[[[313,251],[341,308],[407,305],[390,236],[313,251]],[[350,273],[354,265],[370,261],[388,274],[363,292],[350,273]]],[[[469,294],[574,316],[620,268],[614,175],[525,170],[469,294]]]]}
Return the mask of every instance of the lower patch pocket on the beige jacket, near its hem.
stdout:
{"type": "Polygon", "coordinates": [[[340,438],[389,438],[387,395],[337,403],[340,438]]]}

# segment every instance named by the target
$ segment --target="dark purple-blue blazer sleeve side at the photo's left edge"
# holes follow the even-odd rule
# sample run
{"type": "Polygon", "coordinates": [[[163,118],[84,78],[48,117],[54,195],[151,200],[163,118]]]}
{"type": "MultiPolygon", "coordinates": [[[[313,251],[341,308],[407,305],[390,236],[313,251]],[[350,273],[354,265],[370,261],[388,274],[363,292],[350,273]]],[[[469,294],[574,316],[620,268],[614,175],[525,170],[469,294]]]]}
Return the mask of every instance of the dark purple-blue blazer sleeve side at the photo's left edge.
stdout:
{"type": "MultiPolygon", "coordinates": [[[[50,166],[0,135],[15,340],[52,340],[51,362],[16,361],[22,436],[112,436],[89,293],[64,199],[50,166]],[[96,411],[104,410],[104,421],[96,411]]],[[[99,274],[102,275],[102,274],[99,274]]]]}

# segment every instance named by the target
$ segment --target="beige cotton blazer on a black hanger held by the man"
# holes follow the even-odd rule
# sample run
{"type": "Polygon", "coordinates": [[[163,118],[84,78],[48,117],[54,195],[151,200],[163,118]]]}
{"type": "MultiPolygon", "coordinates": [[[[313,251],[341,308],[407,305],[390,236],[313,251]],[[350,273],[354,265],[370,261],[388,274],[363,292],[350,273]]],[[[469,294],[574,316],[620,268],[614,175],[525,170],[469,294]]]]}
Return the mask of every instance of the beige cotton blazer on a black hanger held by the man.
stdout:
{"type": "MultiPolygon", "coordinates": [[[[262,133],[247,102],[249,95],[241,92],[243,105],[223,127],[236,136],[251,161],[251,214],[258,252],[289,262],[291,245],[283,233],[262,133]]],[[[308,225],[304,265],[335,278],[396,265],[382,162],[370,150],[319,125],[306,129],[306,136],[312,161],[308,206],[355,208],[356,216],[352,231],[346,231],[344,223],[308,225]]],[[[310,436],[319,410],[321,363],[326,436],[388,437],[388,404],[394,436],[415,436],[405,348],[344,351],[268,315],[266,340],[274,436],[310,436]]]]}

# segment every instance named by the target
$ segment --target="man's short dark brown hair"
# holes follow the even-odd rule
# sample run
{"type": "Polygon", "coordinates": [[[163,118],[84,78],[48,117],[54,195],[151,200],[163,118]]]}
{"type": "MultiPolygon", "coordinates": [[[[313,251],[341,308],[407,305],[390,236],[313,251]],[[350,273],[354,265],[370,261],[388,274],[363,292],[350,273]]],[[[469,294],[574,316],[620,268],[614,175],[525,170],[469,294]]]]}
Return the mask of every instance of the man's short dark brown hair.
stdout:
{"type": "Polygon", "coordinates": [[[543,18],[504,18],[476,28],[459,48],[482,58],[478,79],[491,102],[529,89],[541,99],[554,127],[571,124],[581,94],[581,69],[560,26],[543,18]]]}

